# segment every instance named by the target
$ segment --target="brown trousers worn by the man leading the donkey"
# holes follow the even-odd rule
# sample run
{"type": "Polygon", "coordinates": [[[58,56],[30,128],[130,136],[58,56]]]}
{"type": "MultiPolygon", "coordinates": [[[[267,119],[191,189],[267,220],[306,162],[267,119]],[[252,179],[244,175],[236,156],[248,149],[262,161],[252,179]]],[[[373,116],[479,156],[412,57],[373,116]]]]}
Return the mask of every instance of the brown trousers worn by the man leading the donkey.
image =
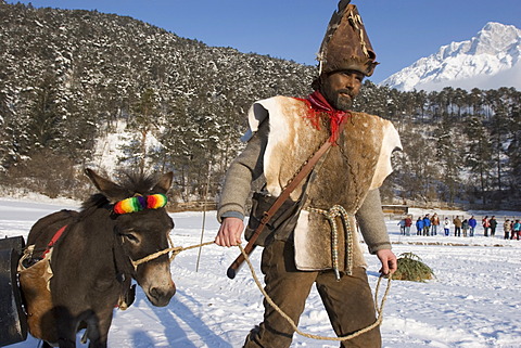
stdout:
{"type": "MultiPolygon", "coordinates": [[[[275,241],[264,249],[260,269],[267,294],[296,324],[314,283],[338,336],[350,335],[376,321],[374,302],[364,268],[354,268],[353,275],[343,274],[338,282],[332,271],[296,270],[293,255],[292,243],[275,241]]],[[[293,328],[266,300],[264,308],[264,321],[252,330],[244,348],[290,347],[293,328]]],[[[380,330],[376,327],[344,340],[340,347],[379,348],[380,330]]]]}

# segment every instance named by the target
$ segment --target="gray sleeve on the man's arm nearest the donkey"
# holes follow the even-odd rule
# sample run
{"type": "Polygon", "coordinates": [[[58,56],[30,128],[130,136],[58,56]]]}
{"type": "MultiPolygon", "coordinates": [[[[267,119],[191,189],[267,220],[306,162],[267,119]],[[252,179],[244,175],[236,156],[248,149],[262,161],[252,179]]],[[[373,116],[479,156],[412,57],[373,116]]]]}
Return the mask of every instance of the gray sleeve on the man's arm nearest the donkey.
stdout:
{"type": "Polygon", "coordinates": [[[231,163],[217,207],[217,220],[225,217],[244,218],[246,199],[252,182],[263,175],[263,157],[267,144],[268,121],[263,121],[258,131],[247,142],[246,149],[231,163]]]}

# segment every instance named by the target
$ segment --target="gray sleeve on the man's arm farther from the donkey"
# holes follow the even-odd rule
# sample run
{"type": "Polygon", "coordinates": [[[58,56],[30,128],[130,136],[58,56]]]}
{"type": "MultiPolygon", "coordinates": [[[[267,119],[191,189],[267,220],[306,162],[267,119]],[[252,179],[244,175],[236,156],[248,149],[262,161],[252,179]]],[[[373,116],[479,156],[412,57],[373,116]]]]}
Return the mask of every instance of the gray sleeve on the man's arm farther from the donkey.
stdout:
{"type": "Polygon", "coordinates": [[[356,212],[356,219],[369,253],[376,254],[381,249],[391,249],[379,189],[369,191],[364,204],[356,212]]]}

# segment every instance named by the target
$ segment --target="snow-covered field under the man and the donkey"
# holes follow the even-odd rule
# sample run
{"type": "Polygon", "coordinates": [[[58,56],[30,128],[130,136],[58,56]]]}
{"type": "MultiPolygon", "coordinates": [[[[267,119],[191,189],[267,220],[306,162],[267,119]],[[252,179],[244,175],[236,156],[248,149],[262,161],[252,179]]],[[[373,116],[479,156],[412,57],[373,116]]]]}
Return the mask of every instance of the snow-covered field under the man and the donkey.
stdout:
{"type": "MultiPolygon", "coordinates": [[[[26,236],[39,218],[62,208],[77,207],[74,202],[43,202],[35,197],[30,201],[0,199],[0,237],[26,236]]],[[[417,217],[420,212],[431,211],[414,214],[417,217]]],[[[450,212],[458,214],[462,212],[450,212]]],[[[521,241],[503,240],[503,217],[511,218],[512,212],[497,211],[495,215],[501,224],[495,237],[484,237],[480,228],[472,239],[446,237],[440,232],[437,236],[406,237],[399,235],[397,221],[387,221],[391,239],[396,243],[395,254],[410,252],[420,256],[433,269],[436,279],[427,283],[392,282],[381,328],[384,347],[521,347],[521,241]]],[[[171,232],[176,246],[201,242],[202,212],[171,216],[176,223],[171,232]]],[[[513,216],[521,218],[521,212],[513,216]]],[[[212,241],[217,228],[215,211],[207,212],[203,240],[212,241]]],[[[226,276],[238,253],[238,248],[205,246],[201,250],[198,272],[199,249],[179,254],[171,268],[177,294],[169,306],[153,307],[138,289],[132,307],[126,311],[115,310],[109,346],[241,347],[249,331],[262,321],[263,306],[262,294],[247,267],[234,280],[226,276]]],[[[252,255],[257,272],[259,257],[260,250],[252,255]]],[[[369,282],[374,287],[380,267],[374,256],[366,257],[369,282]]],[[[333,335],[315,289],[300,328],[322,336],[333,335]]],[[[37,346],[38,341],[29,337],[10,347],[37,346]]],[[[294,336],[292,345],[338,346],[333,341],[300,335],[294,336]]]]}

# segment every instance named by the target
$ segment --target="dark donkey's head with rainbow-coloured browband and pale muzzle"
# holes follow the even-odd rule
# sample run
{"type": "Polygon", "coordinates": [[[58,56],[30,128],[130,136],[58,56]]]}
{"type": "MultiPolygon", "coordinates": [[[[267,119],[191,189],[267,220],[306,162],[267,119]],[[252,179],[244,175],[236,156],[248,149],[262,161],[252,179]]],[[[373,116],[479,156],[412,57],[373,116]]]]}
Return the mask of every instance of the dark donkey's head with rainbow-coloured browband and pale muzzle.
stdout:
{"type": "MultiPolygon", "coordinates": [[[[164,205],[173,173],[158,180],[152,177],[127,175],[127,182],[116,184],[90,169],[86,173],[98,190],[113,204],[114,233],[122,241],[130,260],[137,261],[167,249],[168,234],[174,222],[164,205]]],[[[168,305],[176,293],[167,254],[136,267],[135,278],[154,306],[168,305]]]]}

